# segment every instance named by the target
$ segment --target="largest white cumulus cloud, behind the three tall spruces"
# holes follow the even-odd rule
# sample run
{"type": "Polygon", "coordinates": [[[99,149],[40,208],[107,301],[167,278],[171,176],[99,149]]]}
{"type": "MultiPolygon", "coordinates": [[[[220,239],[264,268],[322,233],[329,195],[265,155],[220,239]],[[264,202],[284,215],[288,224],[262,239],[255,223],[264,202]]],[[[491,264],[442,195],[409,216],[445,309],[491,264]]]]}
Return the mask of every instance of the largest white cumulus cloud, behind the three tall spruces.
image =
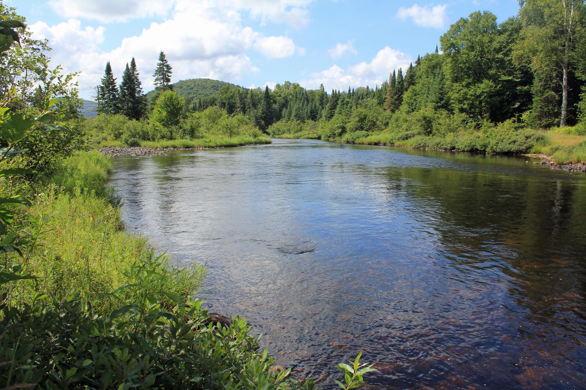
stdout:
{"type": "MultiPolygon", "coordinates": [[[[239,9],[220,6],[228,3],[239,3],[236,5],[240,8],[247,5],[244,0],[176,1],[170,19],[151,23],[139,35],[122,39],[118,47],[108,52],[100,49],[105,29],[84,28],[77,19],[54,26],[38,22],[31,25],[30,30],[35,38],[49,39],[53,64],[61,64],[70,72],[83,71],[79,84],[80,95],[85,98],[93,95],[94,87],[100,83],[106,61],[111,62],[114,76],[120,82],[125,64],[132,57],[137,61],[144,89],[151,90],[154,87],[152,74],[161,50],[173,67],[174,82],[207,77],[236,83],[244,74],[260,71],[247,56],[251,49],[270,58],[305,54],[305,49],[288,37],[264,37],[243,26],[239,9]]],[[[308,4],[308,0],[279,4],[301,6],[308,4]]],[[[248,6],[254,8],[254,2],[248,6]]]]}

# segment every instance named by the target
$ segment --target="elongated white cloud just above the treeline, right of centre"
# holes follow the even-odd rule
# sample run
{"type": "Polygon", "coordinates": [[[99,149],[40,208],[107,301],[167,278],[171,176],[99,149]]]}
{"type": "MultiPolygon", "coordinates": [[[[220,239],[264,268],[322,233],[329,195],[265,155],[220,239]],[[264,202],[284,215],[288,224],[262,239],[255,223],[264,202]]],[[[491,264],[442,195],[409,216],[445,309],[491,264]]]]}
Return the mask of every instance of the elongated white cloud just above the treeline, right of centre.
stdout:
{"type": "Polygon", "coordinates": [[[347,69],[334,64],[329,69],[312,73],[310,78],[301,80],[299,83],[306,88],[319,88],[319,84],[323,84],[328,91],[332,88],[346,90],[349,86],[374,87],[388,80],[389,73],[393,69],[406,69],[411,61],[411,56],[387,46],[380,50],[369,63],[361,62],[347,69]]]}

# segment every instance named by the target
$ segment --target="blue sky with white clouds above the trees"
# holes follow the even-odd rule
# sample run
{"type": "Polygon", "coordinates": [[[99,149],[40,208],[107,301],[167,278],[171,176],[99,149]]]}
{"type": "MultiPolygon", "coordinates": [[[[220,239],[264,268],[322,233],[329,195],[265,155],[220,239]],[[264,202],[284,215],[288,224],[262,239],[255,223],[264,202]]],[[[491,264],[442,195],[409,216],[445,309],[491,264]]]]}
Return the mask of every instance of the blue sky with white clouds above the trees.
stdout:
{"type": "MultiPolygon", "coordinates": [[[[2,1],[2,0],[0,0],[2,1]]],[[[81,71],[91,100],[110,61],[120,83],[135,57],[146,91],[159,52],[172,82],[212,78],[243,87],[291,81],[308,89],[374,87],[432,52],[459,18],[490,11],[499,22],[516,0],[4,0],[46,38],[51,65],[81,71]]]]}

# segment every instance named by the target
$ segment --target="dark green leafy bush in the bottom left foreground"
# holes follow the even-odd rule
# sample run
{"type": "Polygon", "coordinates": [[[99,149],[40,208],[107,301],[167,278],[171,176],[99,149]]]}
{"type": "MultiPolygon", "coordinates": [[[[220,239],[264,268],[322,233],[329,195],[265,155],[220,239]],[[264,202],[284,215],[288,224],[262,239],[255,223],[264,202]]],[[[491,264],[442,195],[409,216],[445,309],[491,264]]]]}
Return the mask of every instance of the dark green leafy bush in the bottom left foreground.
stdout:
{"type": "MultiPolygon", "coordinates": [[[[248,336],[238,317],[231,326],[209,323],[201,302],[152,289],[167,278],[152,256],[134,264],[134,283],[112,293],[120,308],[107,316],[78,294],[62,300],[35,295],[21,309],[2,304],[2,388],[289,389],[314,388],[268,372],[274,363],[248,336]]],[[[173,275],[182,271],[175,271],[173,275]]]]}

